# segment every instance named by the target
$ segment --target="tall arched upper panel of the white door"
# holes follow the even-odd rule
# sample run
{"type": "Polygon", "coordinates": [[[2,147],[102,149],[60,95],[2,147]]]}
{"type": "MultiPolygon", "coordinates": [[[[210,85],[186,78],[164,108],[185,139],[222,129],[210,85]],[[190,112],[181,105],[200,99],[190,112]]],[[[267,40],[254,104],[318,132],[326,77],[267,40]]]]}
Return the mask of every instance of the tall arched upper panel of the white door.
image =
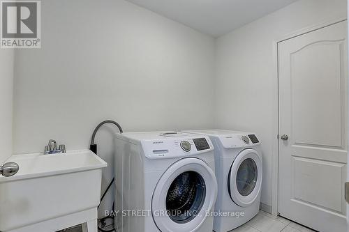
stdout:
{"type": "Polygon", "coordinates": [[[341,54],[344,42],[323,40],[290,54],[295,144],[342,148],[341,54]]]}

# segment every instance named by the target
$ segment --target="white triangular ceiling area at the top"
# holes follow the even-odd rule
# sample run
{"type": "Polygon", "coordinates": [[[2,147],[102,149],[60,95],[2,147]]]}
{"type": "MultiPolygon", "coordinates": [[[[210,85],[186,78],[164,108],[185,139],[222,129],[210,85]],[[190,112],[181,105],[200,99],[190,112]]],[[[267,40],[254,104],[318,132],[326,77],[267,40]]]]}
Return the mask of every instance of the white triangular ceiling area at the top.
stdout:
{"type": "Polygon", "coordinates": [[[239,26],[297,0],[127,0],[211,36],[239,26]]]}

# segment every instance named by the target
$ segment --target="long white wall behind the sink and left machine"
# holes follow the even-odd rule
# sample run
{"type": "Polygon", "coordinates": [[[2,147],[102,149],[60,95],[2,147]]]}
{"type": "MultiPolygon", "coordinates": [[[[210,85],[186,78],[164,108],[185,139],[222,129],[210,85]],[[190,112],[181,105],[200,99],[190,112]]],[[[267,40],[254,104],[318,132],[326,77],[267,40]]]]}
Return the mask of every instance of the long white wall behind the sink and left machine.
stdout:
{"type": "MultiPolygon", "coordinates": [[[[14,153],[48,139],[89,148],[105,119],[126,132],[213,126],[214,38],[122,0],[41,4],[42,48],[15,54],[14,153]]],[[[114,131],[97,138],[103,190],[114,131]]]]}

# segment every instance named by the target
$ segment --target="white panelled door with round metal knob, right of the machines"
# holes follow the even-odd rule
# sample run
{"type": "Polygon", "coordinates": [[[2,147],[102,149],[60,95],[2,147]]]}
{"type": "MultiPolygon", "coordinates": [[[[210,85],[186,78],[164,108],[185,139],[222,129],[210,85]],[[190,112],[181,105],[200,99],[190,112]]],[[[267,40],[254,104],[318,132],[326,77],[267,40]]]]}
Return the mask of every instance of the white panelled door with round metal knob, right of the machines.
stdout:
{"type": "Polygon", "coordinates": [[[279,42],[279,212],[346,231],[347,24],[279,42]]]}

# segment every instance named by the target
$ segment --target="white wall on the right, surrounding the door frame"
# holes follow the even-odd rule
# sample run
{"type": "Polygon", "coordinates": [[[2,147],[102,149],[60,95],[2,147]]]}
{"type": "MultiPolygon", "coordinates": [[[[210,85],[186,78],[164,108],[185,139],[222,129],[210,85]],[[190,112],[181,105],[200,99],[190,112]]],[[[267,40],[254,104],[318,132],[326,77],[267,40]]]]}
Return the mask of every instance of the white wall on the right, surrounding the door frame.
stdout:
{"type": "Polygon", "coordinates": [[[216,41],[216,126],[260,135],[261,201],[268,206],[272,206],[272,156],[277,146],[273,41],[340,16],[346,17],[346,0],[301,0],[216,41]]]}

